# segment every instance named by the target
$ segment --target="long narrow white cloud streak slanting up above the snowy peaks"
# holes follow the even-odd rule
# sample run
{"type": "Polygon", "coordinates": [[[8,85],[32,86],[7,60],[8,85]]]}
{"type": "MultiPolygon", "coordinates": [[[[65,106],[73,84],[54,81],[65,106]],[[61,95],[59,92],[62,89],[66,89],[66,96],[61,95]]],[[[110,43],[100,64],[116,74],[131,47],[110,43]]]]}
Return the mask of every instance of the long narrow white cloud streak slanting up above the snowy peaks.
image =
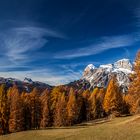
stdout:
{"type": "Polygon", "coordinates": [[[113,37],[102,37],[98,43],[93,43],[83,48],[76,48],[55,54],[56,59],[71,59],[83,56],[99,54],[103,51],[115,48],[129,47],[137,42],[133,35],[121,35],[113,37]]]}

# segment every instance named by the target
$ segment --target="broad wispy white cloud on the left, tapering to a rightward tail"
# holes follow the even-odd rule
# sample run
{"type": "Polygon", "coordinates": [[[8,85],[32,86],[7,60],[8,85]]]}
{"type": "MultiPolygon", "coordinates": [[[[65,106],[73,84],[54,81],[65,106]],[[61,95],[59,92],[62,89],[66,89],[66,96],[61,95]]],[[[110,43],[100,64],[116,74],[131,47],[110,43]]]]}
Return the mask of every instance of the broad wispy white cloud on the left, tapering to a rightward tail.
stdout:
{"type": "Polygon", "coordinates": [[[62,34],[39,27],[16,27],[0,33],[0,47],[12,63],[31,61],[30,52],[37,51],[49,41],[47,37],[65,38],[62,34]]]}

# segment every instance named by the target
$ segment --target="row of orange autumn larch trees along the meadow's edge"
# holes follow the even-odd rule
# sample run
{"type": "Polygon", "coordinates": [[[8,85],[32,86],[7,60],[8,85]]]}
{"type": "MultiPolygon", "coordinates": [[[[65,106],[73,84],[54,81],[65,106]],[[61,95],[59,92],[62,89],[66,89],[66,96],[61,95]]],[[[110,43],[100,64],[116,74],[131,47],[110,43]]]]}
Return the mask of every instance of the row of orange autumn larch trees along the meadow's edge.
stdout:
{"type": "Polygon", "coordinates": [[[106,116],[140,112],[140,52],[128,93],[122,93],[115,75],[107,88],[93,91],[57,86],[25,93],[14,85],[0,85],[0,134],[55,126],[71,126],[106,116]]]}

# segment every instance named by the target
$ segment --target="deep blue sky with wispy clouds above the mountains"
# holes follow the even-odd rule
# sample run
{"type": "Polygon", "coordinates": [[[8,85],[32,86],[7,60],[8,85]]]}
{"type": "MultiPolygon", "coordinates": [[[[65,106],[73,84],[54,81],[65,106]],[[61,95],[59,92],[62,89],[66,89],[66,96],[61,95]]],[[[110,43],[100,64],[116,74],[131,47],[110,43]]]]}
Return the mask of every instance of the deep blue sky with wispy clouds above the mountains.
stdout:
{"type": "Polygon", "coordinates": [[[68,83],[139,46],[139,0],[0,1],[0,76],[68,83]]]}

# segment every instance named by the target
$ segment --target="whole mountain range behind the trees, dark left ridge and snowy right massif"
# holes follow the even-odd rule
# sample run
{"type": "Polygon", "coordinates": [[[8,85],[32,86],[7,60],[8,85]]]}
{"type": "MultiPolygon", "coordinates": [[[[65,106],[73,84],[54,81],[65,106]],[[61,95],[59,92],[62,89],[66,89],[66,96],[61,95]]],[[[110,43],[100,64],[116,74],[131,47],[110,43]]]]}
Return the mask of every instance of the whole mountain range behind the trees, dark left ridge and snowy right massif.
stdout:
{"type": "MultiPolygon", "coordinates": [[[[87,89],[95,87],[107,87],[109,80],[113,75],[116,75],[119,86],[123,91],[127,91],[130,83],[130,75],[133,74],[133,65],[129,59],[121,59],[114,64],[105,64],[95,67],[93,64],[89,64],[84,72],[81,79],[70,82],[66,86],[75,87],[77,89],[87,89]]],[[[47,77],[46,77],[47,78],[47,77]]],[[[33,87],[40,89],[51,89],[46,83],[39,81],[32,81],[32,79],[25,77],[23,81],[14,78],[3,78],[0,77],[0,83],[5,83],[8,86],[16,84],[23,91],[30,92],[33,87]]]]}

